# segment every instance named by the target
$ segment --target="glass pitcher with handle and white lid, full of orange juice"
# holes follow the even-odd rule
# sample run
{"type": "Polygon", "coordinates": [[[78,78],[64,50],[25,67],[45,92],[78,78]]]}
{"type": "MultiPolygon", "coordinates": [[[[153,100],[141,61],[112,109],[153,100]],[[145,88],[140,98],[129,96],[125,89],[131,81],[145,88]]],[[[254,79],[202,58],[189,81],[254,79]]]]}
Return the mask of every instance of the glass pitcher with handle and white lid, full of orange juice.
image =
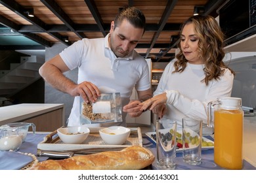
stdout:
{"type": "Polygon", "coordinates": [[[208,103],[208,126],[214,127],[215,163],[226,169],[242,169],[242,99],[223,97],[208,103]]]}

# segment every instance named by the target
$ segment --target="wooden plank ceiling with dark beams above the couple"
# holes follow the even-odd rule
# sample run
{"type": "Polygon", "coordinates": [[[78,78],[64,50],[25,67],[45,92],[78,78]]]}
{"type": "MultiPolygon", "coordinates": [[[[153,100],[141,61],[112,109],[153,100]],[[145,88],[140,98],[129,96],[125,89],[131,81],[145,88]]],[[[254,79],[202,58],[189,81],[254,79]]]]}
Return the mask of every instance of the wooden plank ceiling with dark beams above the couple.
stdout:
{"type": "MultiPolygon", "coordinates": [[[[146,16],[146,31],[136,50],[144,58],[159,61],[173,58],[181,24],[192,16],[195,6],[203,7],[203,14],[216,16],[224,1],[0,0],[0,23],[42,46],[51,47],[55,42],[68,46],[83,38],[105,37],[119,8],[135,6],[146,16]],[[27,10],[33,10],[35,16],[29,17],[27,10]],[[69,42],[64,41],[66,37],[69,42]]],[[[2,42],[1,48],[10,46],[2,42]]]]}

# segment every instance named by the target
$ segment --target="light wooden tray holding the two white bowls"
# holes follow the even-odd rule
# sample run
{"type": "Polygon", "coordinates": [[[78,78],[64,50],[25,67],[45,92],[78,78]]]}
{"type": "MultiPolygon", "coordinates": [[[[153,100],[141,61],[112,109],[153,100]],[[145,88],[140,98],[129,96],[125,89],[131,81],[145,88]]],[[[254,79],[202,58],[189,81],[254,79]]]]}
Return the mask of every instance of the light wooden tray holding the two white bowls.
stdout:
{"type": "Polygon", "coordinates": [[[140,127],[131,128],[130,136],[122,145],[109,145],[104,142],[98,131],[90,133],[87,139],[81,144],[65,144],[58,137],[57,131],[53,131],[42,142],[37,144],[38,150],[48,150],[57,152],[74,152],[75,154],[94,154],[109,150],[122,150],[128,146],[142,146],[142,134],[140,127]]]}

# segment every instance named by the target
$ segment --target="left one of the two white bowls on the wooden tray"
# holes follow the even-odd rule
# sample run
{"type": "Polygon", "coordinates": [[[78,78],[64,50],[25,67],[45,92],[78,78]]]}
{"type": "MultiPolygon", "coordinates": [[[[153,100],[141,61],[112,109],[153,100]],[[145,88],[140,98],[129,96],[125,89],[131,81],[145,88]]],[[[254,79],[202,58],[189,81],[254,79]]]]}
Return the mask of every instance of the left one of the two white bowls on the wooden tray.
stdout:
{"type": "Polygon", "coordinates": [[[83,125],[60,127],[58,137],[66,144],[81,144],[90,133],[90,129],[83,125]]]}

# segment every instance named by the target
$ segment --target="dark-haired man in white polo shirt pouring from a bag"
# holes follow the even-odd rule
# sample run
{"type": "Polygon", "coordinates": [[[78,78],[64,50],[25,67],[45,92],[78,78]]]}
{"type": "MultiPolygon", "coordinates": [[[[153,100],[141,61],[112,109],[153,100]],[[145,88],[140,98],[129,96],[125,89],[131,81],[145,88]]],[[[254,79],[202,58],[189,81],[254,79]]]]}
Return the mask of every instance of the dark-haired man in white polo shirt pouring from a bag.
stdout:
{"type": "Polygon", "coordinates": [[[152,97],[148,65],[134,50],[145,25],[144,14],[139,9],[123,8],[111,22],[110,33],[105,38],[77,41],[39,69],[51,86],[75,97],[68,125],[79,125],[79,96],[86,103],[94,103],[100,93],[121,93],[123,122],[115,125],[125,126],[127,113],[131,117],[140,116],[139,103],[152,97]],[[76,67],[77,84],[63,75],[76,67]],[[139,101],[129,102],[134,87],[139,101]]]}

